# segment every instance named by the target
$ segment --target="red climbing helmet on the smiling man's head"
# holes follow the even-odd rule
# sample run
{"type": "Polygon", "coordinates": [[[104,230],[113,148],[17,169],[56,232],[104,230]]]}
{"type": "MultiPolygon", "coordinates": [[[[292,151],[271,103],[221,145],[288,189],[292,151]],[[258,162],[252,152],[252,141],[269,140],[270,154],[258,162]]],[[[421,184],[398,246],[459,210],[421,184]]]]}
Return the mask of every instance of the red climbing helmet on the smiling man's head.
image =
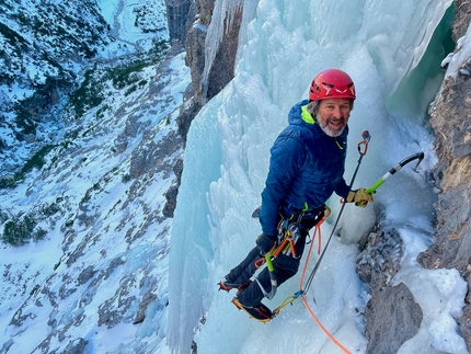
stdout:
{"type": "Polygon", "coordinates": [[[314,80],[312,80],[309,90],[310,101],[331,98],[355,100],[355,84],[345,71],[328,69],[318,73],[314,80]]]}

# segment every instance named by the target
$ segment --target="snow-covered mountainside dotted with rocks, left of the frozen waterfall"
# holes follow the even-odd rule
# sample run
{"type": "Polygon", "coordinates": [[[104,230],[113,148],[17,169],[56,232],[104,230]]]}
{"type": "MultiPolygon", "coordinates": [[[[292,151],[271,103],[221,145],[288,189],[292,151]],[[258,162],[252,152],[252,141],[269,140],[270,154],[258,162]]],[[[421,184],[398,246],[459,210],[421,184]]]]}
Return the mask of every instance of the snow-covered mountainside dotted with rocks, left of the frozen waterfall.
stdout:
{"type": "Polygon", "coordinates": [[[89,71],[101,102],[41,124],[43,168],[0,190],[0,237],[20,245],[0,248],[1,353],[165,347],[172,224],[162,210],[183,153],[176,117],[189,70],[183,54],[136,52],[162,38],[134,26],[133,10],[148,3],[113,12],[118,36],[136,42],[108,47],[104,59],[119,60],[89,71]]]}

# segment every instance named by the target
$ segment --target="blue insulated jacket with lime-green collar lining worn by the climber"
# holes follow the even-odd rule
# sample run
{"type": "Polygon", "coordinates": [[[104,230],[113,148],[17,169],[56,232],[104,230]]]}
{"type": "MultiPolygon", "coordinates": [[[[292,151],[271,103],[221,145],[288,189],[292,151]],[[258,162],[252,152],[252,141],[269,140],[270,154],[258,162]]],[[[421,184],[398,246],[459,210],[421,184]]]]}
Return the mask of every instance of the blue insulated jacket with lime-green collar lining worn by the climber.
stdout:
{"type": "Polygon", "coordinates": [[[271,149],[269,171],[262,192],[260,221],[265,235],[277,235],[278,209],[290,215],[295,209],[322,207],[333,192],[346,196],[349,187],[343,179],[348,127],[341,136],[330,137],[306,111],[301,101],[289,112],[289,125],[271,149]],[[305,111],[305,118],[302,118],[305,111]],[[310,121],[310,122],[309,122],[310,121]],[[283,209],[286,205],[291,210],[283,209]]]}

